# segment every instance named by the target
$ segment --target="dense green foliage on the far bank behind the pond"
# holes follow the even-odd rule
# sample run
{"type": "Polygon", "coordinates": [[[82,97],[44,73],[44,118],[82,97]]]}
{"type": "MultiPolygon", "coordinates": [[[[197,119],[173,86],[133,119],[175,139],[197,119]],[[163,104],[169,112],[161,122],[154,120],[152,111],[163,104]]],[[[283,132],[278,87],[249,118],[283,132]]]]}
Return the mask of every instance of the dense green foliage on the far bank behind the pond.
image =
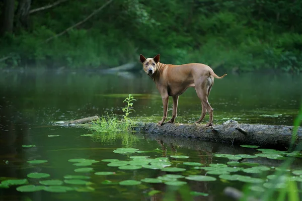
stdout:
{"type": "MultiPolygon", "coordinates": [[[[31,9],[51,2],[33,1],[31,9]]],[[[30,14],[29,27],[0,39],[0,59],[13,53],[0,66],[108,67],[160,53],[163,63],[302,70],[302,0],[115,0],[43,43],[106,2],[72,0],[30,14]]]]}

